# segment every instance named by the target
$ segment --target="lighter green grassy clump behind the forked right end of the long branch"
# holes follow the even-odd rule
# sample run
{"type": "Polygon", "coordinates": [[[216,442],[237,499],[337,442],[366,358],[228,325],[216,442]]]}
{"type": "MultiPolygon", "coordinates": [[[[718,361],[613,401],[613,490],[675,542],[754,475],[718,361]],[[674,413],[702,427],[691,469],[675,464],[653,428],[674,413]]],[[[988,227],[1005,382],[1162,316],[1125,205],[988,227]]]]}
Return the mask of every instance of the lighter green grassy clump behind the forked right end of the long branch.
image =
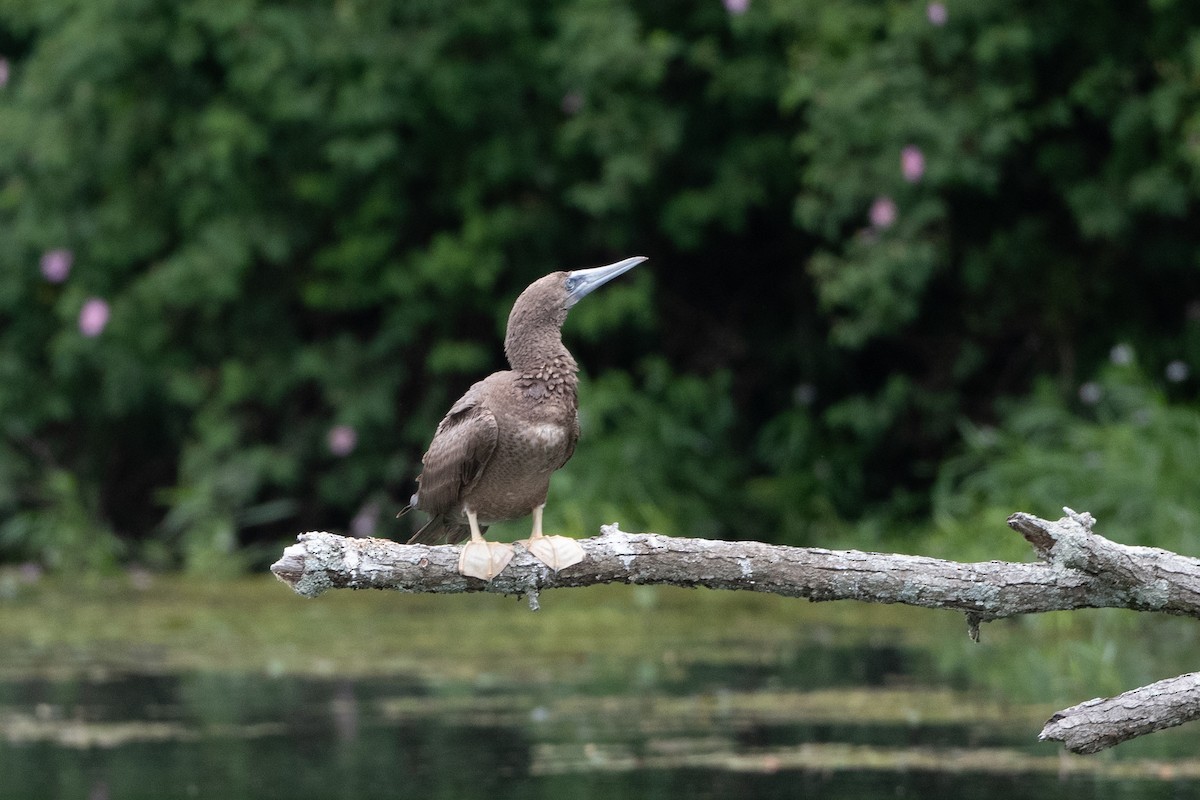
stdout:
{"type": "Polygon", "coordinates": [[[1013,511],[1057,518],[1067,505],[1122,543],[1200,552],[1200,409],[1166,403],[1135,365],[1109,367],[1082,395],[1068,404],[1043,383],[998,426],[967,425],[934,493],[938,525],[998,537],[1013,511]]]}

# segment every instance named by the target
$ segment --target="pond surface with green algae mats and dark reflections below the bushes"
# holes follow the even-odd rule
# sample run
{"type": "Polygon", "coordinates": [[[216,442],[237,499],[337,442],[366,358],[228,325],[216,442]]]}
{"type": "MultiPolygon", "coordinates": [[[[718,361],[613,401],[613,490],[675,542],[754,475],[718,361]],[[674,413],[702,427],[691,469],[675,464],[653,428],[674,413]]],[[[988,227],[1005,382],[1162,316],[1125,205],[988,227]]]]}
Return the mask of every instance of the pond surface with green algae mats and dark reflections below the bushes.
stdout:
{"type": "Polygon", "coordinates": [[[1057,708],[1195,668],[1195,625],[602,587],[485,595],[0,576],[0,796],[1170,798],[1189,728],[1057,708]],[[1190,663],[1189,663],[1190,661],[1190,663]]]}

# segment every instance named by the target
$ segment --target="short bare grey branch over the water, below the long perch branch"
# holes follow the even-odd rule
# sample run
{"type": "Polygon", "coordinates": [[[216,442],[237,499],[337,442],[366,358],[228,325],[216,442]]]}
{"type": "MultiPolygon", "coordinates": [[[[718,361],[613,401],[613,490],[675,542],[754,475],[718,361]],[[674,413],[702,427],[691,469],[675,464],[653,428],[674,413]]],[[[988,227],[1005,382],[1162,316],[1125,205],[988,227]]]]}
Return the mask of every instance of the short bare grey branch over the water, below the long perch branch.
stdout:
{"type": "Polygon", "coordinates": [[[1096,753],[1196,718],[1200,718],[1200,673],[1194,672],[1058,711],[1038,739],[1061,741],[1073,753],[1096,753]]]}

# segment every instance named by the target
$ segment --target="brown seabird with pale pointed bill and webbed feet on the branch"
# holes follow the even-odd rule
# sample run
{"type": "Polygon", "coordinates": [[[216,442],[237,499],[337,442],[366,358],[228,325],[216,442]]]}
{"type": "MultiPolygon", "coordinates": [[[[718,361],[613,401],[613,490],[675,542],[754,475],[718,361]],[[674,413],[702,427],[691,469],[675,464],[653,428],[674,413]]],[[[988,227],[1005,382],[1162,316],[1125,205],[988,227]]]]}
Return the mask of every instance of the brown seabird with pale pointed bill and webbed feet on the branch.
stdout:
{"type": "Polygon", "coordinates": [[[550,476],[580,438],[578,365],[563,344],[566,312],[634,269],[636,255],[590,269],[551,272],[512,303],[504,335],[509,369],[474,384],[438,423],[421,458],[409,506],[431,515],[409,543],[458,543],[461,575],[492,581],[512,560],[511,545],[484,539],[494,522],[533,517],[520,543],[550,569],[583,560],[568,536],[542,533],[550,476]]]}

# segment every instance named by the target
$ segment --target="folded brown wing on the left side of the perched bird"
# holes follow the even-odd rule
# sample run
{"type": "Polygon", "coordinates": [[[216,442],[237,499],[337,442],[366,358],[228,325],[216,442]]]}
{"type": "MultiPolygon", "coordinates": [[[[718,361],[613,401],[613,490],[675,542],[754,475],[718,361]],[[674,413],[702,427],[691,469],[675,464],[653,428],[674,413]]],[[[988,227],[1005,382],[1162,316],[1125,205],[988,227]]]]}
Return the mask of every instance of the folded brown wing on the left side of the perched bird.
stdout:
{"type": "Polygon", "coordinates": [[[499,428],[481,395],[481,384],[475,384],[438,423],[416,479],[421,511],[439,515],[455,509],[492,457],[499,428]]]}

